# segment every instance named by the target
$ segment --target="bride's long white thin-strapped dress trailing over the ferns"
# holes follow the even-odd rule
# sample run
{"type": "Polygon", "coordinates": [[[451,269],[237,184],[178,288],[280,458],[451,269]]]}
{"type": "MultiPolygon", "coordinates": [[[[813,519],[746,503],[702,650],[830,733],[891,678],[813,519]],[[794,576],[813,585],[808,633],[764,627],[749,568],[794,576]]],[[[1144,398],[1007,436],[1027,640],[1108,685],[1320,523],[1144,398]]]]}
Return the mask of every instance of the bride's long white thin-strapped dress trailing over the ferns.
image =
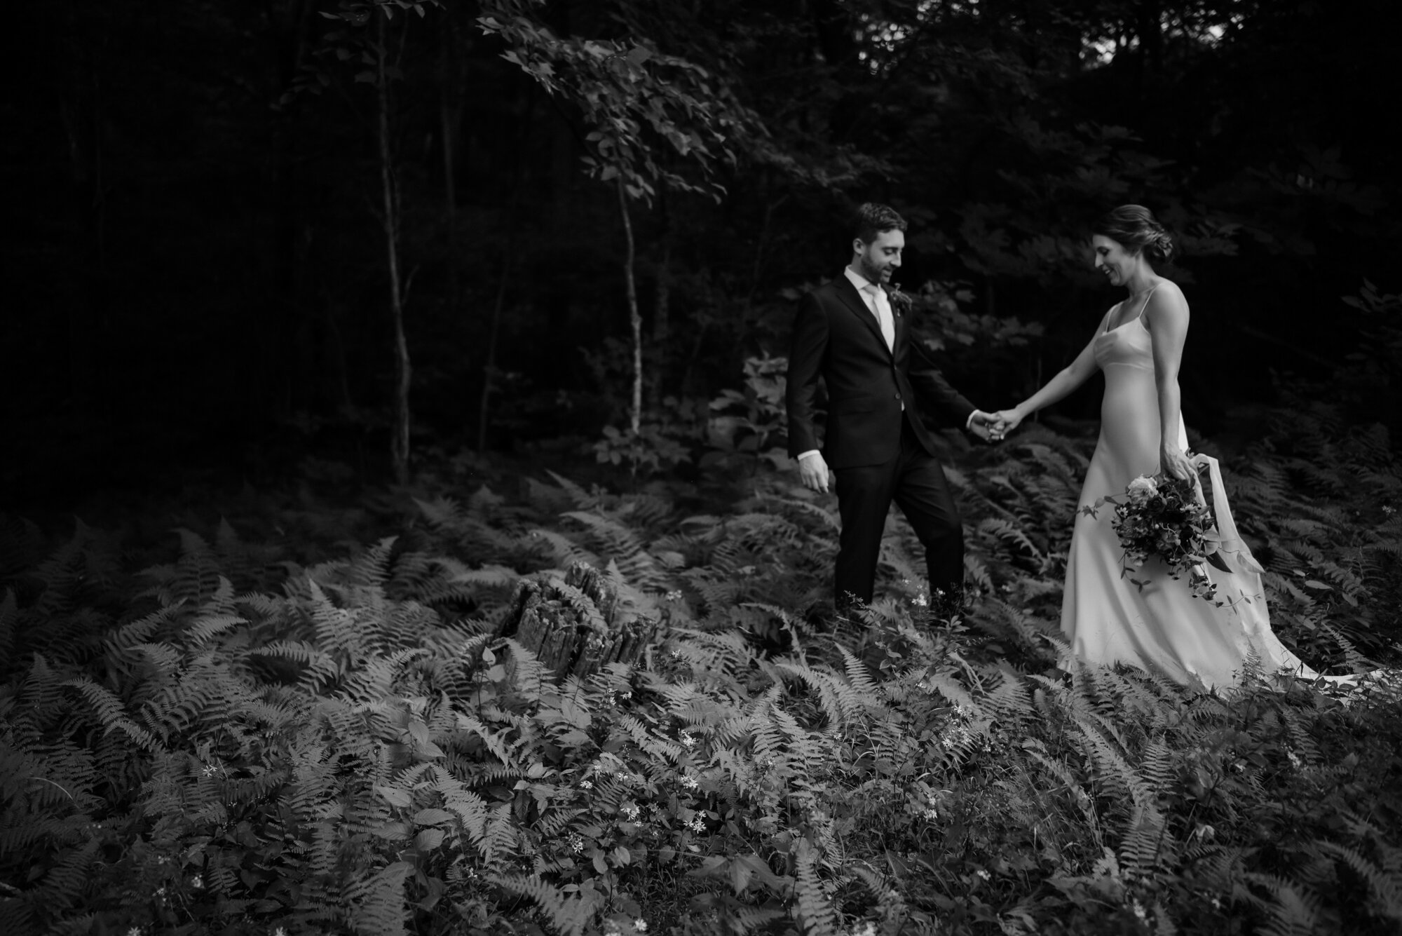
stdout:
{"type": "MultiPolygon", "coordinates": [[[[1105,401],[1101,439],[1081,489],[1082,507],[1105,495],[1123,495],[1130,481],[1158,468],[1152,336],[1143,315],[1109,328],[1113,314],[1113,308],[1106,312],[1094,339],[1095,360],[1105,371],[1105,401]]],[[[1178,444],[1187,451],[1182,418],[1178,444]]],[[[1211,467],[1216,474],[1216,462],[1211,467]]],[[[1178,682],[1206,687],[1238,682],[1248,656],[1255,656],[1266,674],[1291,670],[1315,678],[1272,632],[1260,574],[1255,572],[1260,566],[1239,542],[1220,475],[1216,481],[1218,528],[1237,551],[1225,556],[1231,573],[1211,566],[1207,573],[1217,584],[1218,600],[1235,603],[1234,607],[1216,607],[1193,597],[1187,577],[1169,577],[1168,567],[1157,558],[1133,574],[1148,580],[1143,590],[1130,576],[1122,576],[1124,551],[1110,525],[1115,510],[1105,504],[1096,517],[1078,513],[1071,535],[1061,631],[1078,656],[1158,670],[1178,682]]]]}

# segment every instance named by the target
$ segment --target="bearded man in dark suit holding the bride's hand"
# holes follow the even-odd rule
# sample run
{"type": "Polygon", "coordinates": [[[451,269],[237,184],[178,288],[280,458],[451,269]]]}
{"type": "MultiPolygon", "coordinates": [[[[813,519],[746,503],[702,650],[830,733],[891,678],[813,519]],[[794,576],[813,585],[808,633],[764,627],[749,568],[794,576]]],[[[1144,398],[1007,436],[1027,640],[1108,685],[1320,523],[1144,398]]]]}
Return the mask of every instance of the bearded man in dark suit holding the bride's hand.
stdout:
{"type": "Polygon", "coordinates": [[[988,439],[990,413],[941,377],[887,289],[900,269],[906,220],[862,205],[852,220],[852,259],[843,275],[799,301],[788,367],[789,455],[812,490],[837,489],[843,520],[837,610],[869,603],[886,514],[894,500],[925,546],[931,593],[956,607],[963,589],[963,527],[923,415],[988,439]],[[817,380],[827,384],[822,446],[813,426],[817,380]]]}

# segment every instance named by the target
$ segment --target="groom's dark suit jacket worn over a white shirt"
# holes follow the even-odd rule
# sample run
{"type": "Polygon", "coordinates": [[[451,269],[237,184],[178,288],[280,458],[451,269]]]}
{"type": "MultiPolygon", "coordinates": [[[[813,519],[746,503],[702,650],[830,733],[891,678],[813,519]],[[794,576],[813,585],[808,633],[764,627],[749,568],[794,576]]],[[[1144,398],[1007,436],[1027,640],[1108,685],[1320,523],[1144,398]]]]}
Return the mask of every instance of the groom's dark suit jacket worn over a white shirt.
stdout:
{"type": "MultiPolygon", "coordinates": [[[[894,310],[892,310],[894,311],[894,310]]],[[[803,296],[794,319],[788,366],[789,455],[822,448],[829,468],[879,465],[900,454],[901,405],[916,439],[931,455],[928,412],[942,426],[963,427],[973,404],[951,387],[910,340],[908,317],[896,312],[894,349],[845,276],[803,296]],[[827,384],[827,432],[813,426],[817,378],[827,384]]]]}

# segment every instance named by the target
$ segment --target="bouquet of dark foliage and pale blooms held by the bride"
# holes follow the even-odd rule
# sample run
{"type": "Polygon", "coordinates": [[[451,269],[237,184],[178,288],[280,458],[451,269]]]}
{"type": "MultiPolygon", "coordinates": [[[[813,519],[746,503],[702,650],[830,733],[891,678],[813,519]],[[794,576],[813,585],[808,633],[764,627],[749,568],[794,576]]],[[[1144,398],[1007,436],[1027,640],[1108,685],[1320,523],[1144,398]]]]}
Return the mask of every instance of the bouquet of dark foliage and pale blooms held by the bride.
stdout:
{"type": "MultiPolygon", "coordinates": [[[[1095,507],[1084,510],[1095,516],[1096,507],[1103,503],[1115,504],[1110,525],[1124,546],[1124,574],[1133,573],[1151,556],[1158,556],[1172,577],[1187,574],[1189,589],[1195,596],[1217,604],[1217,586],[1207,577],[1204,563],[1223,572],[1231,569],[1218,551],[1220,537],[1214,528],[1213,511],[1202,502],[1192,481],[1140,475],[1123,495],[1101,497],[1095,507]]],[[[1140,589],[1148,584],[1133,576],[1130,581],[1140,589]]]]}

